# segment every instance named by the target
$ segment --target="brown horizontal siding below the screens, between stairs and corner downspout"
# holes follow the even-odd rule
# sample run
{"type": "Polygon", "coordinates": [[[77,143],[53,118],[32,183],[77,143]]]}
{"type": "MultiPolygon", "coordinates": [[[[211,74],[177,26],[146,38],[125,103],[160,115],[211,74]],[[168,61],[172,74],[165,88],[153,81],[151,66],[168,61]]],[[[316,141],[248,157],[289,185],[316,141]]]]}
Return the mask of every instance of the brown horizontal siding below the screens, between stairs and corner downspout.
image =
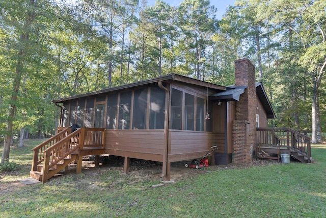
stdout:
{"type": "Polygon", "coordinates": [[[163,161],[164,130],[106,130],[107,154],[163,161]]]}

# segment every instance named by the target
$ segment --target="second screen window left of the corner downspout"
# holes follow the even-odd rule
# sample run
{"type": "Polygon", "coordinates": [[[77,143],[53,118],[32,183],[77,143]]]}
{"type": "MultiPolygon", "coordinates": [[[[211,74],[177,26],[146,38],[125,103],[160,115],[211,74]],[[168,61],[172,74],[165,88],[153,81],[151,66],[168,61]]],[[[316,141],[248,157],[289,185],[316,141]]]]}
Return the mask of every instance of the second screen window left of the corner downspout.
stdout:
{"type": "Polygon", "coordinates": [[[147,88],[134,91],[132,129],[146,129],[147,88]]]}

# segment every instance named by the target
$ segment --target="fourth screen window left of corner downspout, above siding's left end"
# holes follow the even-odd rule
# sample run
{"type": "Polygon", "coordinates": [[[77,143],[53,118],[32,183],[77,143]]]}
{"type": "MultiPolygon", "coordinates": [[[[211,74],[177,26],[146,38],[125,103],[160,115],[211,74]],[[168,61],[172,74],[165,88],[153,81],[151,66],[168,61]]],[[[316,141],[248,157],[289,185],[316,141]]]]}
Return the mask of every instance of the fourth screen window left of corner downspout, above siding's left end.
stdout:
{"type": "Polygon", "coordinates": [[[107,95],[106,129],[117,128],[118,93],[107,95]]]}

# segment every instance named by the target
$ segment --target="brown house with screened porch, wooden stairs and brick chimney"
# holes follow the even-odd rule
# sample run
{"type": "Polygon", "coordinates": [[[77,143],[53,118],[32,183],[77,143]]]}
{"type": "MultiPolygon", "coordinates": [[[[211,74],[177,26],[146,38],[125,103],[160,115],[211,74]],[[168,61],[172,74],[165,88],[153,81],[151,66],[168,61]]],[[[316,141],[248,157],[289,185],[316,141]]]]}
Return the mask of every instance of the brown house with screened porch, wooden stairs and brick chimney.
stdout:
{"type": "Polygon", "coordinates": [[[35,148],[31,171],[42,182],[73,160],[80,172],[84,155],[122,156],[125,173],[130,158],[159,161],[166,181],[171,162],[202,157],[212,146],[218,149],[211,164],[248,163],[257,127],[275,118],[247,58],[235,61],[231,87],[170,74],[52,102],[61,108],[60,132],[35,148]],[[73,124],[82,128],[71,133],[73,124]],[[45,176],[51,168],[56,171],[45,176]]]}

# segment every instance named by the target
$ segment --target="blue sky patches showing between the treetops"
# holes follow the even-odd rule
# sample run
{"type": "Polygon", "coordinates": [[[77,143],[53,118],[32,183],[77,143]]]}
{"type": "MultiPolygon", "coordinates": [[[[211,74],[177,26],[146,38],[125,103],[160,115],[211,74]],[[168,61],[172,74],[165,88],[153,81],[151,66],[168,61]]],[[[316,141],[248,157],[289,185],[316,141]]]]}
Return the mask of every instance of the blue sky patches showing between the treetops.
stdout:
{"type": "MultiPolygon", "coordinates": [[[[171,6],[178,7],[183,0],[162,0],[163,2],[168,3],[171,6]]],[[[154,6],[156,0],[147,0],[148,6],[154,6]]],[[[218,13],[216,13],[216,18],[219,20],[222,19],[223,14],[226,12],[226,8],[229,5],[234,5],[235,0],[210,0],[210,4],[214,5],[215,8],[218,9],[218,13]]]]}

